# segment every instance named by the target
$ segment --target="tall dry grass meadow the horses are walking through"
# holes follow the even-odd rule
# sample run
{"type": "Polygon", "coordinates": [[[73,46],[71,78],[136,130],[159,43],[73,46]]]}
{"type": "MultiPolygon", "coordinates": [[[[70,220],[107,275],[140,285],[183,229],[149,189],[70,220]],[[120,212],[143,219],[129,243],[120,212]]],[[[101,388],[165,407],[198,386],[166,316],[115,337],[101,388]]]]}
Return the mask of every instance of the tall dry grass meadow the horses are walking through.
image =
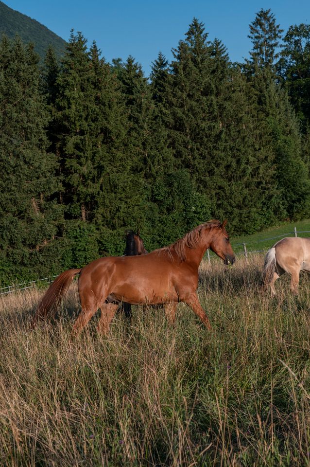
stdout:
{"type": "Polygon", "coordinates": [[[310,466],[310,278],[271,299],[262,262],[203,264],[212,332],[180,304],[174,327],[135,307],[71,341],[76,285],[34,332],[41,292],[3,296],[0,465],[310,466]]]}

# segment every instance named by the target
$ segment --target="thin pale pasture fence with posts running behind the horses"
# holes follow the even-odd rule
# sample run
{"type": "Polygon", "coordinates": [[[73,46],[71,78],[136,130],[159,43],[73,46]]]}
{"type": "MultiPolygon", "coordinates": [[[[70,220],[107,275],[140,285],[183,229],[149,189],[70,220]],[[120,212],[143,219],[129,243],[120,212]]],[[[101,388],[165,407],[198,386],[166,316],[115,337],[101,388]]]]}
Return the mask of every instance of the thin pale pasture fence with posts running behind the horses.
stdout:
{"type": "MultiPolygon", "coordinates": [[[[247,259],[249,253],[261,253],[261,252],[266,250],[266,249],[264,249],[264,250],[248,250],[247,247],[246,247],[247,245],[253,245],[253,244],[258,244],[258,243],[262,243],[262,242],[267,242],[269,240],[276,240],[278,238],[287,237],[289,235],[294,235],[295,237],[297,237],[298,234],[310,234],[310,231],[309,230],[297,231],[296,227],[294,227],[293,232],[288,232],[286,234],[276,235],[275,237],[269,237],[269,238],[261,238],[260,240],[255,240],[255,241],[252,241],[252,242],[236,243],[234,245],[234,247],[239,247],[239,246],[243,247],[243,251],[237,252],[236,255],[243,254],[245,259],[247,259]]],[[[211,258],[210,258],[209,250],[207,250],[207,258],[208,258],[208,261],[210,263],[211,258]]],[[[40,286],[47,286],[48,284],[52,284],[52,282],[54,282],[52,279],[54,279],[57,276],[58,276],[58,274],[56,274],[54,276],[44,277],[43,279],[37,279],[36,281],[21,282],[20,284],[12,284],[11,286],[0,287],[0,295],[6,295],[8,293],[19,292],[21,290],[26,290],[28,288],[33,288],[33,287],[36,287],[38,284],[40,286]],[[25,286],[25,287],[20,287],[20,286],[25,286]]]]}

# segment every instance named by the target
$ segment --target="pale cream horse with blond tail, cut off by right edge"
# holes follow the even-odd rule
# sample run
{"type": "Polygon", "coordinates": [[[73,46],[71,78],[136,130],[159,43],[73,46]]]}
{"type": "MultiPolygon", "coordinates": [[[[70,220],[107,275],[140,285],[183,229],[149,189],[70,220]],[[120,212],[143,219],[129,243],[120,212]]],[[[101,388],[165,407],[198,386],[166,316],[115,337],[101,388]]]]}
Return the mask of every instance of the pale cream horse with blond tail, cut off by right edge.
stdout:
{"type": "Polygon", "coordinates": [[[270,286],[271,293],[275,296],[275,282],[287,272],[291,276],[291,290],[297,294],[300,271],[310,272],[310,238],[282,238],[265,256],[264,286],[270,286]]]}

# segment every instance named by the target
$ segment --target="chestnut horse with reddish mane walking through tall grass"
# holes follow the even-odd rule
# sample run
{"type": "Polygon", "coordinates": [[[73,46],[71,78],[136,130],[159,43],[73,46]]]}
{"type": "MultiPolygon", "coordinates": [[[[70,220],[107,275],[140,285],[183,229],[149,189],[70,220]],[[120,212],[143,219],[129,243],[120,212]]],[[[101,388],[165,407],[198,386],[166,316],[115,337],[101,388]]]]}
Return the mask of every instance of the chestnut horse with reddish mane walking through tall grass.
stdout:
{"type": "Polygon", "coordinates": [[[84,268],[62,272],[40,301],[31,327],[51,312],[67,292],[74,276],[80,274],[78,290],[82,311],[73,325],[76,334],[82,331],[98,308],[101,308],[101,318],[97,329],[107,333],[120,301],[132,305],[165,304],[166,316],[172,323],[177,304],[184,302],[211,329],[196,294],[198,268],[208,248],[225,264],[234,263],[235,255],[225,225],[226,221],[210,220],[169,247],[139,256],[104,257],[84,268]],[[113,297],[117,303],[105,303],[107,297],[113,297]]]}

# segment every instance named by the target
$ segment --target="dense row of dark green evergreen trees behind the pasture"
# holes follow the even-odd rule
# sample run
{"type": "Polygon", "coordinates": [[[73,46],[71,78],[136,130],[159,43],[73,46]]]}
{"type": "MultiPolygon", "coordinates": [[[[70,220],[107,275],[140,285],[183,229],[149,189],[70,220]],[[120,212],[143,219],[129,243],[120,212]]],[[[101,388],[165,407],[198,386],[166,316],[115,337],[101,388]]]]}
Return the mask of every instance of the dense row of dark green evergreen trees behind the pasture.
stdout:
{"type": "Polygon", "coordinates": [[[43,71],[3,37],[1,281],[121,254],[126,229],[152,250],[210,218],[245,234],[309,217],[310,26],[260,10],[249,35],[232,63],[194,18],[149,79],[81,33],[43,71]]]}

